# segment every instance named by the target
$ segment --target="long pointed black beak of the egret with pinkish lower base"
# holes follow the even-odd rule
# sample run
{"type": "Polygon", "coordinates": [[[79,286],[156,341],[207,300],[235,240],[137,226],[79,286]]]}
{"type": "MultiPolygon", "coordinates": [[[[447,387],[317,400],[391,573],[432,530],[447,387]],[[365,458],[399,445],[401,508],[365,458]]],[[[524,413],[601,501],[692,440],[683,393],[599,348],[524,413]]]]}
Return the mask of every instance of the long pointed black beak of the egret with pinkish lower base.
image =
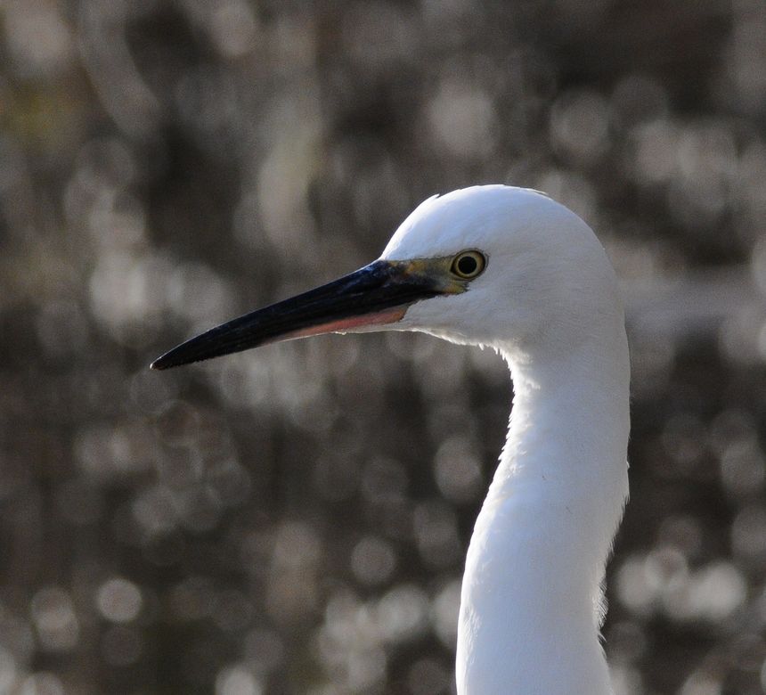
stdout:
{"type": "Polygon", "coordinates": [[[281,340],[395,323],[414,302],[450,292],[423,270],[406,261],[375,261],[315,290],[216,326],[174,347],[156,359],[151,369],[200,362],[281,340]]]}

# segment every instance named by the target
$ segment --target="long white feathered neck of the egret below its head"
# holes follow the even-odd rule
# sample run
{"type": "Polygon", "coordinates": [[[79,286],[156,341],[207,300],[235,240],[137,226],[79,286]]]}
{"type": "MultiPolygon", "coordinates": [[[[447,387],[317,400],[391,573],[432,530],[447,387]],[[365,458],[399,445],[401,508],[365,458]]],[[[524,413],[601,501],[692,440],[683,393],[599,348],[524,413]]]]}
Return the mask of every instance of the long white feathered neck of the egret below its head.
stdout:
{"type": "Polygon", "coordinates": [[[604,568],[628,492],[623,323],[564,359],[506,354],[509,436],[471,538],[460,695],[607,695],[604,568]]]}

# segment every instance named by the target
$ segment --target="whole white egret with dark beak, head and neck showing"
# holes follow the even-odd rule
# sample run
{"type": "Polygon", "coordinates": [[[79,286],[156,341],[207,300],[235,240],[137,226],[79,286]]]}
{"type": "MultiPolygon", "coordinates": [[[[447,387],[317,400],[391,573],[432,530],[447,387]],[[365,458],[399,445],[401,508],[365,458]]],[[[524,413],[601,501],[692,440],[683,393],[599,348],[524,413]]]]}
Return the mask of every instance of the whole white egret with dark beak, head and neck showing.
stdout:
{"type": "Polygon", "coordinates": [[[514,386],[508,440],[469,544],[460,695],[606,695],[607,557],[628,492],[622,302],[591,228],[540,192],[423,202],[355,273],[235,319],[165,369],[326,332],[424,331],[493,347],[514,386]]]}

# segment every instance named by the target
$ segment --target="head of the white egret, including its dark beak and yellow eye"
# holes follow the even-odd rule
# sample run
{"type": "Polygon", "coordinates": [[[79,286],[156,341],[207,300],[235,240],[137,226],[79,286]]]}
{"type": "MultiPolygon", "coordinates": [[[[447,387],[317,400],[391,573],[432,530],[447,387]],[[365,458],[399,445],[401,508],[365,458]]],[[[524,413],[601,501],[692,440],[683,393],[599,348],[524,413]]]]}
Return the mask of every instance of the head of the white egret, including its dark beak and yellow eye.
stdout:
{"type": "Polygon", "coordinates": [[[475,186],[423,202],[370,266],[211,329],[152,367],[381,330],[524,355],[571,347],[621,316],[615,275],[588,225],[542,193],[475,186]]]}

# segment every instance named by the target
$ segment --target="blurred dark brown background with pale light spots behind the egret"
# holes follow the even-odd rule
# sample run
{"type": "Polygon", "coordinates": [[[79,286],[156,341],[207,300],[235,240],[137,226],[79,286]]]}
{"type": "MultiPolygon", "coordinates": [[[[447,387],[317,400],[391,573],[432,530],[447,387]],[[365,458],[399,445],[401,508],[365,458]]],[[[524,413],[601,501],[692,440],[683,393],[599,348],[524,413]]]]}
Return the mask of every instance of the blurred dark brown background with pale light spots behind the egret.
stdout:
{"type": "Polygon", "coordinates": [[[618,695],[766,691],[762,0],[2,0],[0,692],[453,691],[500,358],[147,366],[490,182],[623,279],[618,695]]]}

